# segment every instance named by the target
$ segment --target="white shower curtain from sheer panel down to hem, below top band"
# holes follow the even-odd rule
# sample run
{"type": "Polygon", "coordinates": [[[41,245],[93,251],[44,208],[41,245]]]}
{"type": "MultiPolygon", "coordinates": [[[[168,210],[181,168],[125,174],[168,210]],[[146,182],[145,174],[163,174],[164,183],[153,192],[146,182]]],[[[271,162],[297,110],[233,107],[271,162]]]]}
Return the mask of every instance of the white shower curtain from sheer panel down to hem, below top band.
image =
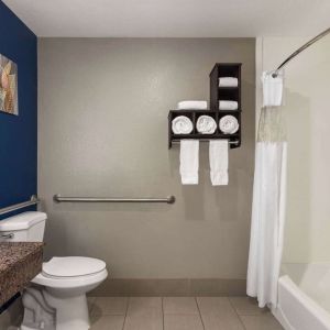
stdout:
{"type": "Polygon", "coordinates": [[[276,307],[286,204],[287,142],[283,110],[263,108],[255,151],[248,289],[260,307],[276,307]]]}

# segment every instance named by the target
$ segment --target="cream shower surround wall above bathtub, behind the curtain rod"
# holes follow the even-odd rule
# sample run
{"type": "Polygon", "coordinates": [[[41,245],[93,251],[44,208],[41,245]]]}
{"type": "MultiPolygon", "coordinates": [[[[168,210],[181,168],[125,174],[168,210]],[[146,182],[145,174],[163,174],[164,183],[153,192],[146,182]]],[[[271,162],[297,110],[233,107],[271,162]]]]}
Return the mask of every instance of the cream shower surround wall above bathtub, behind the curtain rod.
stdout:
{"type": "MultiPolygon", "coordinates": [[[[260,70],[274,69],[306,38],[264,37],[256,42],[260,70]]],[[[288,210],[284,261],[330,261],[330,37],[319,41],[286,68],[288,210]]]]}

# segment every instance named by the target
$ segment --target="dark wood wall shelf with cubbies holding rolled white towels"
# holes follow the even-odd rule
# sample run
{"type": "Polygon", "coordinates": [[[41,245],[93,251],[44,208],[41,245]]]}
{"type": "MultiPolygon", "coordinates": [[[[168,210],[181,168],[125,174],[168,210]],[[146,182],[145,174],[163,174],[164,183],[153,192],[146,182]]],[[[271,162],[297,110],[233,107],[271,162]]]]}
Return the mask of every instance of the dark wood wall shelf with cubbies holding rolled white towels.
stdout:
{"type": "Polygon", "coordinates": [[[173,142],[179,142],[183,139],[195,139],[209,141],[216,139],[228,139],[230,147],[241,145],[241,63],[217,63],[210,73],[210,109],[211,110],[170,110],[168,113],[168,148],[173,142]],[[238,87],[220,87],[219,78],[235,77],[238,87]],[[230,100],[238,102],[238,110],[220,110],[219,101],[230,100]],[[217,122],[217,130],[213,134],[198,133],[196,129],[197,120],[200,116],[207,114],[212,117],[217,122]],[[239,131],[233,134],[223,134],[219,129],[219,121],[222,117],[231,114],[238,119],[240,124],[239,131]],[[172,121],[178,116],[186,116],[193,122],[193,132],[190,134],[174,134],[172,131],[172,121]]]}

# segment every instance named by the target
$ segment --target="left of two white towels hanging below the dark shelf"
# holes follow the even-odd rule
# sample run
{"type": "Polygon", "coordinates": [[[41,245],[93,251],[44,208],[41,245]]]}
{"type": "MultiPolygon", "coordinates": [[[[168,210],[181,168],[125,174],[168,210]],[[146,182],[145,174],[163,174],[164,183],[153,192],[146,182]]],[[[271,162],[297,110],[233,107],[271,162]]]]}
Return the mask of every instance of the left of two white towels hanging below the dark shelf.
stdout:
{"type": "Polygon", "coordinates": [[[180,141],[180,175],[183,185],[198,185],[199,141],[180,141]]]}

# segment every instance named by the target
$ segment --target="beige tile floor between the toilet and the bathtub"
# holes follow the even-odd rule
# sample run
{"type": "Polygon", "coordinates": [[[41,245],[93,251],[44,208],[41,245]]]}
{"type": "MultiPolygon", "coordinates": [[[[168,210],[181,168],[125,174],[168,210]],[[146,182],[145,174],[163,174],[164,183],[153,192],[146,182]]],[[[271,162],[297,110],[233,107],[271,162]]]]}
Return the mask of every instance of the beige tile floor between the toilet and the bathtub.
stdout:
{"type": "Polygon", "coordinates": [[[91,330],[282,330],[246,297],[90,297],[91,330]]]}

